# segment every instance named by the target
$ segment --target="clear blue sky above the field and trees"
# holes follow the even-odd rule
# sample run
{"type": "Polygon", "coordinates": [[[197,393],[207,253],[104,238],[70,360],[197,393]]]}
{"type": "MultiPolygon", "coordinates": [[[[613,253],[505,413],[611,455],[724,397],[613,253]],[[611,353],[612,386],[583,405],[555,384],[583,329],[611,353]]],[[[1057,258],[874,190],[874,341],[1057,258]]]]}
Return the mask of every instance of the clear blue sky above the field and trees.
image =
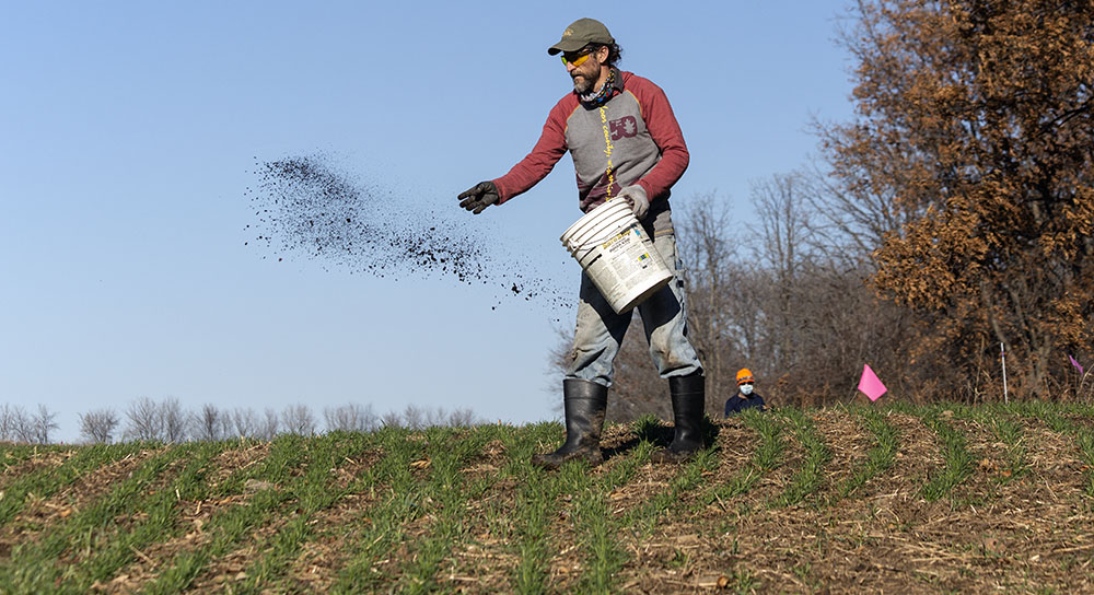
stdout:
{"type": "MultiPolygon", "coordinates": [[[[456,211],[504,264],[560,279],[580,211],[563,159],[472,215],[569,78],[546,48],[602,20],[621,67],[668,95],[691,152],[674,203],[717,192],[749,230],[749,182],[802,165],[812,116],[851,115],[843,2],[10,2],[0,20],[0,402],[77,415],[176,397],[469,407],[551,419],[548,352],[572,308],[442,276],[383,279],[251,238],[255,163],[317,151],[391,189],[392,212],[456,211]],[[616,5],[616,4],[613,4],[616,5]]],[[[383,257],[382,255],[377,255],[383,257]]]]}

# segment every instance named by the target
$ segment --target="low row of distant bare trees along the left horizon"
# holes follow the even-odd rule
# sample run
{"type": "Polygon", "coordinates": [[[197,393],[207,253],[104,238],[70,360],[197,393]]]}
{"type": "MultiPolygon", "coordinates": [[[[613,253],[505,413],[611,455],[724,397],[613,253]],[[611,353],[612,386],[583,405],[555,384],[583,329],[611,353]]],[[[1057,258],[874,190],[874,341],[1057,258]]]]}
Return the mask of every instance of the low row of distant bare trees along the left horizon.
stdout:
{"type": "MultiPolygon", "coordinates": [[[[20,406],[0,405],[0,441],[48,444],[58,429],[57,413],[39,405],[27,411],[20,406]]],[[[289,405],[278,410],[266,407],[222,409],[205,404],[187,410],[174,397],[155,400],[140,397],[120,412],[98,408],[80,413],[80,438],[89,443],[116,441],[218,441],[234,438],[272,440],[280,434],[315,435],[321,431],[371,432],[381,428],[421,430],[430,427],[464,428],[481,423],[469,408],[447,411],[442,407],[407,405],[401,410],[377,413],[372,404],[349,402],[323,409],[322,420],[310,407],[289,405]]]]}

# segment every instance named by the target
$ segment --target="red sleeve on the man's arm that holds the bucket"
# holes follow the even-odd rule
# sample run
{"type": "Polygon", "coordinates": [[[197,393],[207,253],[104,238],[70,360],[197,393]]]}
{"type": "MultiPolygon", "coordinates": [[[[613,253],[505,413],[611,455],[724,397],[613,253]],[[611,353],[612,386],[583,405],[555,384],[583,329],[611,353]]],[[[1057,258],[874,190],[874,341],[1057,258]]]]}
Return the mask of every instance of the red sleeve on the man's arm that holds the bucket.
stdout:
{"type": "Polygon", "coordinates": [[[668,104],[665,92],[645,79],[635,82],[639,83],[633,86],[637,86],[635,91],[642,108],[645,128],[650,131],[653,142],[661,149],[661,161],[638,180],[645,188],[650,200],[653,200],[667,194],[673,184],[679,180],[691,158],[687,152],[687,144],[684,143],[684,132],[680,131],[680,125],[676,121],[676,115],[673,114],[673,107],[668,104]]]}

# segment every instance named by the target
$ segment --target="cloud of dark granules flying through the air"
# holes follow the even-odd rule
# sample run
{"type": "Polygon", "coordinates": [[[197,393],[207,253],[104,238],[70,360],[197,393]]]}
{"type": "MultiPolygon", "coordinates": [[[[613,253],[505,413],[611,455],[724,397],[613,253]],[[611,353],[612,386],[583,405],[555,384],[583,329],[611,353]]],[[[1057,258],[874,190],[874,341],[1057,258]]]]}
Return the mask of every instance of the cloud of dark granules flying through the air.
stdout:
{"type": "Polygon", "coordinates": [[[556,283],[526,272],[533,268],[513,254],[519,250],[498,250],[455,200],[443,210],[423,207],[417,196],[362,180],[323,153],[256,159],[255,174],[258,183],[246,189],[257,219],[246,230],[255,235],[244,245],[254,242],[263,258],[300,256],[328,271],[395,281],[453,278],[493,285],[498,300],[508,294],[550,308],[570,305],[556,283]]]}

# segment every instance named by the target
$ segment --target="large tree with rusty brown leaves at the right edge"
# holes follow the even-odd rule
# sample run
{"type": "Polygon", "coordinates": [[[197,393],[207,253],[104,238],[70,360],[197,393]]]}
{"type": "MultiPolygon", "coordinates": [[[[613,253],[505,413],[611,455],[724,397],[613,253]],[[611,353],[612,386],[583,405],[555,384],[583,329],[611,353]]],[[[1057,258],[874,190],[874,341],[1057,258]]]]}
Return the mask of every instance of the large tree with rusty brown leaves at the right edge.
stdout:
{"type": "Polygon", "coordinates": [[[968,381],[1003,343],[1046,396],[1094,338],[1094,2],[858,8],[858,117],[823,139],[834,180],[905,221],[873,281],[924,316],[923,369],[968,381]]]}

